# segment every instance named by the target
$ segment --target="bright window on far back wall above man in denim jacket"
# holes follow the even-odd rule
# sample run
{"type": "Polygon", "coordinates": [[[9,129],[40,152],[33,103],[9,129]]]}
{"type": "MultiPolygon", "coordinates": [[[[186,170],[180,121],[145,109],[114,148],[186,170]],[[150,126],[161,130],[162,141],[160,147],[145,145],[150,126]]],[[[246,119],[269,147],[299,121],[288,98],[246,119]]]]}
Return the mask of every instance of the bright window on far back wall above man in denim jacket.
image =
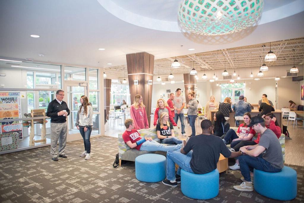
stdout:
{"type": "Polygon", "coordinates": [[[239,100],[240,95],[246,96],[244,83],[222,84],[221,102],[223,102],[226,97],[230,97],[232,103],[235,103],[239,100]]]}

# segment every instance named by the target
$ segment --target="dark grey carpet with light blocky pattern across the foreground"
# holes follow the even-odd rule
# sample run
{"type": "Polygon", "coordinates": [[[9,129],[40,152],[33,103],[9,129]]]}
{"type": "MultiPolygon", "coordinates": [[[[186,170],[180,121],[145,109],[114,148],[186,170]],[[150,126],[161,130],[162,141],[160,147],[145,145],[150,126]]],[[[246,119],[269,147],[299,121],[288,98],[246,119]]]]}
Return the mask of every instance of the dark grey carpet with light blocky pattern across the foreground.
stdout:
{"type": "MultiPolygon", "coordinates": [[[[135,178],[134,162],[113,168],[117,138],[96,137],[92,157],[79,157],[83,142],[67,143],[67,159],[52,161],[50,147],[1,155],[0,202],[280,202],[253,192],[240,192],[239,171],[220,174],[219,195],[202,201],[185,197],[181,188],[158,183],[143,183],[135,178]]],[[[298,173],[298,196],[304,201],[304,167],[291,166],[298,173]]],[[[148,172],[147,172],[148,173],[148,172]]]]}

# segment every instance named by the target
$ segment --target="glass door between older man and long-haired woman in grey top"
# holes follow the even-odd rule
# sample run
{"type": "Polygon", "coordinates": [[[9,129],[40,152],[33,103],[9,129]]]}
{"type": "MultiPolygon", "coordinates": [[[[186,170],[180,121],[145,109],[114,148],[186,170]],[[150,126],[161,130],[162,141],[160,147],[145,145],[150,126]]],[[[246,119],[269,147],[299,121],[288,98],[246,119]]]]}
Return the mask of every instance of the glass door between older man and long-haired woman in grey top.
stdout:
{"type": "Polygon", "coordinates": [[[68,135],[67,141],[74,141],[82,139],[79,130],[76,128],[76,118],[78,108],[81,105],[80,97],[82,95],[87,95],[86,83],[66,83],[65,84],[65,99],[67,106],[70,109],[70,115],[67,118],[68,135]],[[80,86],[81,84],[81,86],[80,86]],[[73,136],[70,136],[73,135],[73,136]]]}

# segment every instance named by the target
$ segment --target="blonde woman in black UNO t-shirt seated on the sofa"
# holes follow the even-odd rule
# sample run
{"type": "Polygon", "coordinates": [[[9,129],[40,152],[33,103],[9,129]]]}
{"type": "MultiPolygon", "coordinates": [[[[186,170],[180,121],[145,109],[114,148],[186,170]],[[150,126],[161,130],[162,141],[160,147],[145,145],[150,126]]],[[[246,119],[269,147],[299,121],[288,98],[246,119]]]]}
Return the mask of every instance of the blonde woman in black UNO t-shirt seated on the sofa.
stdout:
{"type": "Polygon", "coordinates": [[[183,141],[174,137],[174,129],[169,122],[169,114],[162,112],[159,117],[159,122],[156,125],[156,133],[162,144],[181,144],[183,141]]]}

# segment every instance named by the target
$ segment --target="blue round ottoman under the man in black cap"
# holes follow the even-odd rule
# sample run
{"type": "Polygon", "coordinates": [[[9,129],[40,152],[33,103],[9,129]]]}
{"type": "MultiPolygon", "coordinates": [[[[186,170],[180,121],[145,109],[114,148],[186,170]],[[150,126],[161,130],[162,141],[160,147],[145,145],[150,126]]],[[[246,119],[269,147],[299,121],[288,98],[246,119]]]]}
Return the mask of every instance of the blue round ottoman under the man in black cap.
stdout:
{"type": "Polygon", "coordinates": [[[297,172],[287,166],[278,173],[254,169],[254,190],[271,199],[292,200],[297,196],[297,172]]]}

